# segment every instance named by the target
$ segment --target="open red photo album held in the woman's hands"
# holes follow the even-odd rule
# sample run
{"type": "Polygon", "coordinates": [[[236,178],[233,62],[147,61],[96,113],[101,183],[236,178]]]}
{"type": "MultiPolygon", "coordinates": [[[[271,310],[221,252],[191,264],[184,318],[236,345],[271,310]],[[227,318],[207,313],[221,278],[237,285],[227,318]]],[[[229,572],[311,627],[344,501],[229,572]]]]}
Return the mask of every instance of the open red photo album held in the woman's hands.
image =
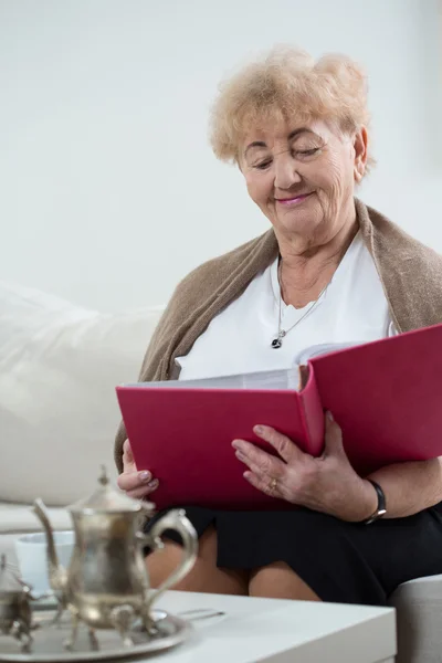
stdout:
{"type": "MultiPolygon", "coordinates": [[[[303,352],[304,357],[306,352],[303,352]]],[[[360,475],[442,455],[442,325],[335,350],[312,348],[301,370],[117,387],[138,470],[159,480],[157,508],[282,508],[243,477],[232,441],[274,453],[253,433],[272,425],[319,455],[324,412],[343,429],[360,475]]],[[[308,356],[308,351],[307,351],[308,356]]]]}

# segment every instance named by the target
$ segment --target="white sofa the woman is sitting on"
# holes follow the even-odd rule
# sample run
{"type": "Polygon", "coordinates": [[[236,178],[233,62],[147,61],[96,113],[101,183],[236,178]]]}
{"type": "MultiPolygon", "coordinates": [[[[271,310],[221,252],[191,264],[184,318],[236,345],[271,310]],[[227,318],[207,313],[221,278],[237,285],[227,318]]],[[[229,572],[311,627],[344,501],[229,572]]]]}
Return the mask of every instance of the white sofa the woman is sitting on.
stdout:
{"type": "MultiPolygon", "coordinates": [[[[105,315],[0,282],[0,552],[40,530],[35,497],[56,529],[105,464],[115,477],[115,386],[134,381],[162,307],[105,315]]],[[[388,555],[388,550],[386,550],[388,555]]],[[[441,550],[442,555],[442,550],[441,550]]],[[[442,661],[442,576],[398,588],[399,663],[442,661]]]]}

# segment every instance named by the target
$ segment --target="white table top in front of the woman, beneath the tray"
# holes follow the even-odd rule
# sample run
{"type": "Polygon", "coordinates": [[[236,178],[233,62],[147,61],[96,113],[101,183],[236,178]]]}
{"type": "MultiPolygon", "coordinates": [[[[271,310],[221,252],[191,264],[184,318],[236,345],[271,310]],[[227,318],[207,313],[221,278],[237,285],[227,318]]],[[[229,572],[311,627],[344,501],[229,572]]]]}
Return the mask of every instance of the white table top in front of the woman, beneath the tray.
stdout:
{"type": "Polygon", "coordinates": [[[165,663],[393,663],[391,608],[169,591],[156,604],[179,614],[208,608],[194,635],[158,656],[165,663]]]}

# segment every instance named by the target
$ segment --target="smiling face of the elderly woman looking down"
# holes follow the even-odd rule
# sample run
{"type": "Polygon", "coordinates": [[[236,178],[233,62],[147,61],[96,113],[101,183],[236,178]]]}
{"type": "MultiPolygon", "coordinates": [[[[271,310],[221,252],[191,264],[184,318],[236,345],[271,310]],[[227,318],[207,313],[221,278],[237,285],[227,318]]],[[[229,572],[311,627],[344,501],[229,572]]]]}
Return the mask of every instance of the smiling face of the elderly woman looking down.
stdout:
{"type": "Polygon", "coordinates": [[[308,248],[330,241],[348,221],[366,148],[365,129],[348,136],[319,120],[284,125],[249,133],[240,168],[276,235],[308,248]]]}

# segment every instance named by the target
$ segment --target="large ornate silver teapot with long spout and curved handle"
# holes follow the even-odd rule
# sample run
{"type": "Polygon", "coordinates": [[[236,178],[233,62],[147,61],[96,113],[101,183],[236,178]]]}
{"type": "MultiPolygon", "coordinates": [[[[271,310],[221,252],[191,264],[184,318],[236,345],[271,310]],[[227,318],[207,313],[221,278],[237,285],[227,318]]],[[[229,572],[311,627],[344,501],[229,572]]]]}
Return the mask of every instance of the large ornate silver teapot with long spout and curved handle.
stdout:
{"type": "Polygon", "coordinates": [[[141,532],[154,504],[133,499],[114,490],[105,469],[99,487],[87,499],[69,507],[75,530],[75,545],[67,569],[57,559],[53,530],[41,499],[34,513],[46,534],[48,569],[59,611],[71,613],[72,632],[65,648],[72,650],[80,622],[90,630],[94,649],[98,648],[95,629],[115,629],[125,645],[131,646],[130,631],[141,621],[148,633],[155,632],[150,617],[152,603],[192,568],[198,551],[197,533],[182,509],[172,509],[158,520],[148,535],[141,532]],[[156,590],[150,589],[143,546],[162,547],[161,534],[175,529],[182,538],[181,564],[156,590]]]}

